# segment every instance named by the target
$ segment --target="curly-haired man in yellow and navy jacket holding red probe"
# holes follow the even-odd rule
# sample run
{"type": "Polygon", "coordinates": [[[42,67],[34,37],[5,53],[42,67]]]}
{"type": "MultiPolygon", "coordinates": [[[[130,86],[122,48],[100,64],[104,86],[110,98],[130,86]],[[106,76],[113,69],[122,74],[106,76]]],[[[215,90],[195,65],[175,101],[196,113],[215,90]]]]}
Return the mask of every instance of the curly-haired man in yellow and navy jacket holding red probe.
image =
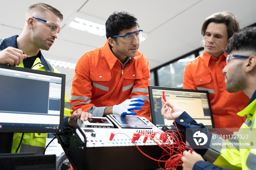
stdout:
{"type": "Polygon", "coordinates": [[[223,69],[226,90],[228,92],[243,91],[250,98],[246,108],[237,113],[238,116],[244,117],[247,115],[248,118],[242,124],[240,130],[234,132],[233,135],[210,134],[203,124],[197,124],[181,108],[162,100],[162,115],[168,120],[172,119],[168,105],[172,109],[171,112],[177,127],[185,134],[187,142],[193,148],[198,147],[193,138],[195,132],[200,130],[200,133],[207,135],[208,142],[195,150],[203,158],[196,152],[183,152],[184,157],[181,160],[183,161],[184,170],[224,169],[220,167],[243,170],[255,169],[256,28],[245,28],[234,34],[229,39],[229,45],[224,51],[228,54],[226,66],[223,69]],[[220,167],[204,162],[204,159],[220,167]]]}

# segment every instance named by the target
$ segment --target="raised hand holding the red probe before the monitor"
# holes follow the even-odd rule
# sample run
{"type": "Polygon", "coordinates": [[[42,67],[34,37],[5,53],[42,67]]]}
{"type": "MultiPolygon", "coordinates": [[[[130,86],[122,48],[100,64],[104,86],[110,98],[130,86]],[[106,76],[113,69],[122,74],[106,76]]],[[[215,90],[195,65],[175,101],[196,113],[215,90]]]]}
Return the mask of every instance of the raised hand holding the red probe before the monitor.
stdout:
{"type": "Polygon", "coordinates": [[[162,99],[162,105],[163,105],[163,107],[161,109],[161,114],[167,120],[173,120],[173,119],[175,120],[181,115],[181,113],[184,112],[180,107],[170,104],[169,101],[165,102],[163,99],[162,99]],[[168,106],[170,107],[170,111],[171,111],[172,115],[169,111],[168,106]],[[172,118],[172,116],[173,116],[173,118],[172,118]]]}

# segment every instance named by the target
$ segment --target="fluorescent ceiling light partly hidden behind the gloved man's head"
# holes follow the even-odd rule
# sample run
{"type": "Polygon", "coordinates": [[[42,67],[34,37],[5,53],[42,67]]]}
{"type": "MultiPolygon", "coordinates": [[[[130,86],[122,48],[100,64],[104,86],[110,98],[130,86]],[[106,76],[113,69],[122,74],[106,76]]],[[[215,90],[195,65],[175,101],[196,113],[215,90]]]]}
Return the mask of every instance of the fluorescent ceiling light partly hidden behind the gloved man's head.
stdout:
{"type": "MultiPolygon", "coordinates": [[[[69,23],[68,26],[71,28],[106,37],[105,21],[102,19],[95,18],[80,12],[74,12],[68,19],[67,23],[69,23]]],[[[143,42],[146,38],[147,34],[142,32],[140,42],[143,42]]]]}

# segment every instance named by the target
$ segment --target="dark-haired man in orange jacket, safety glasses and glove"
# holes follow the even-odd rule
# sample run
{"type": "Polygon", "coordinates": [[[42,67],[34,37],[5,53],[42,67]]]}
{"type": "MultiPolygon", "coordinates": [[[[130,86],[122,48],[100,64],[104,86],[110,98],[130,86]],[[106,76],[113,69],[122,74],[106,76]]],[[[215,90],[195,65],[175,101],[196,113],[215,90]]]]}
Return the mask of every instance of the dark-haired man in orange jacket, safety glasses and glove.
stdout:
{"type": "Polygon", "coordinates": [[[150,69],[138,51],[141,34],[131,13],[109,16],[105,45],[85,53],[76,65],[70,98],[74,110],[81,108],[100,117],[138,115],[150,120],[150,69]]]}

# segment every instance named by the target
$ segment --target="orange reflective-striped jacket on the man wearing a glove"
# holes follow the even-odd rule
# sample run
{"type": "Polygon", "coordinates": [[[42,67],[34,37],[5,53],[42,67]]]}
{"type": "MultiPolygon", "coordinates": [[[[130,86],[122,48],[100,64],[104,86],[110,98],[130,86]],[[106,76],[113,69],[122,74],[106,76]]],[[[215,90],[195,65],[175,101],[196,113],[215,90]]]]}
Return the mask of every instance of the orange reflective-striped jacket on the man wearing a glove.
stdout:
{"type": "MultiPolygon", "coordinates": [[[[113,106],[126,99],[142,98],[144,106],[135,112],[150,120],[149,81],[148,60],[142,53],[138,51],[123,67],[107,41],[103,47],[85,53],[76,64],[70,103],[74,111],[81,108],[88,112],[91,107],[113,106]]],[[[103,112],[96,116],[103,116],[103,112]]]]}

